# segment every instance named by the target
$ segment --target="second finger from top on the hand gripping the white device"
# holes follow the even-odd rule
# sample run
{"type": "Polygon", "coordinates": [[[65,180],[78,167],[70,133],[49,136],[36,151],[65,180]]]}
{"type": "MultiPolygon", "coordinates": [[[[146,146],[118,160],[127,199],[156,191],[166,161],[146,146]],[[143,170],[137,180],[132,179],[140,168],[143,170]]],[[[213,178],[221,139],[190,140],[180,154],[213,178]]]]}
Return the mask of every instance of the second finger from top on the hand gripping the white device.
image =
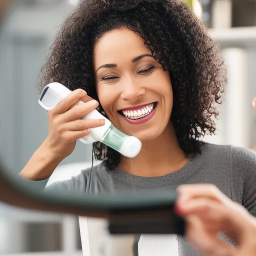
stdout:
{"type": "Polygon", "coordinates": [[[62,122],[77,120],[82,118],[84,115],[90,113],[98,106],[98,102],[96,100],[90,100],[86,103],[77,104],[65,113],[63,113],[61,120],[62,122]]]}

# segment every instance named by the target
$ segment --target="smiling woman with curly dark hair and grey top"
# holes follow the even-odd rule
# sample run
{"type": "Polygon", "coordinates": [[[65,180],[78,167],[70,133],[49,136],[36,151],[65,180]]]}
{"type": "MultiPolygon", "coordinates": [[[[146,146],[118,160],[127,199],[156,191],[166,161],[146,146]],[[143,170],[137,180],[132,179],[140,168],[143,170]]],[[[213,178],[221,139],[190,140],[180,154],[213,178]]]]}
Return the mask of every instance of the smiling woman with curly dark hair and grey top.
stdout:
{"type": "MultiPolygon", "coordinates": [[[[91,194],[213,183],[256,214],[250,150],[203,143],[214,133],[226,72],[203,23],[179,0],[84,0],[63,24],[40,87],[57,81],[74,90],[49,113],[49,134],[21,171],[47,178],[102,120],[80,117],[98,107],[115,127],[142,142],[126,158],[100,142],[102,163],[52,184],[91,194]],[[87,101],[73,107],[78,100],[87,101]]],[[[179,255],[198,252],[178,237],[179,255]]]]}

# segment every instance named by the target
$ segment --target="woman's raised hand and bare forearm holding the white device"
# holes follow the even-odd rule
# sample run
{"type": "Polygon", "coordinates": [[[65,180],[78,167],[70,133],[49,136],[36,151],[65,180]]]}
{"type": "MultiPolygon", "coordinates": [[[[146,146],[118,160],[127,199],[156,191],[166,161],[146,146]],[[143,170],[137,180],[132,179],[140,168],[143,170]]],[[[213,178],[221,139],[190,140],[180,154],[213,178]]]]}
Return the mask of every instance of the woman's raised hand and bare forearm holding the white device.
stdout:
{"type": "Polygon", "coordinates": [[[59,162],[74,150],[77,139],[88,135],[90,128],[104,125],[104,119],[80,119],[97,106],[96,100],[77,89],[48,110],[48,136],[19,174],[32,180],[48,178],[59,162]],[[79,101],[84,103],[77,104],[79,101]]]}

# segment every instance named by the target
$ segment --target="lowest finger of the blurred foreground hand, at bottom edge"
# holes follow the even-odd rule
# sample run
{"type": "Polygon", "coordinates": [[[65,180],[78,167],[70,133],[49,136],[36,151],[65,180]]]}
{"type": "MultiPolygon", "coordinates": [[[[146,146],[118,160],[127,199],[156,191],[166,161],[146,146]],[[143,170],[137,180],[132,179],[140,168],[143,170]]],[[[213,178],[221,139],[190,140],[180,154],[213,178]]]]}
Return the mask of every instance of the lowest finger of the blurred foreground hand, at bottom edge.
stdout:
{"type": "Polygon", "coordinates": [[[196,216],[186,219],[186,238],[195,248],[206,256],[234,256],[236,249],[222,242],[215,235],[210,235],[204,228],[202,221],[196,216]]]}

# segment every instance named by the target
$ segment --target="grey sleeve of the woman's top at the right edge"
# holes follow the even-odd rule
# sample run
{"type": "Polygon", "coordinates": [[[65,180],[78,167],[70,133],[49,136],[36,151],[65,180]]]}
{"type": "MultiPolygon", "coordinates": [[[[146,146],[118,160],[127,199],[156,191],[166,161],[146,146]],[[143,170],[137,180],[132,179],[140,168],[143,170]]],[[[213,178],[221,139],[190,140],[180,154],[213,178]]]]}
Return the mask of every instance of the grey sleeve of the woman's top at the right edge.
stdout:
{"type": "Polygon", "coordinates": [[[232,197],[256,216],[256,153],[232,146],[230,158],[232,197]]]}

